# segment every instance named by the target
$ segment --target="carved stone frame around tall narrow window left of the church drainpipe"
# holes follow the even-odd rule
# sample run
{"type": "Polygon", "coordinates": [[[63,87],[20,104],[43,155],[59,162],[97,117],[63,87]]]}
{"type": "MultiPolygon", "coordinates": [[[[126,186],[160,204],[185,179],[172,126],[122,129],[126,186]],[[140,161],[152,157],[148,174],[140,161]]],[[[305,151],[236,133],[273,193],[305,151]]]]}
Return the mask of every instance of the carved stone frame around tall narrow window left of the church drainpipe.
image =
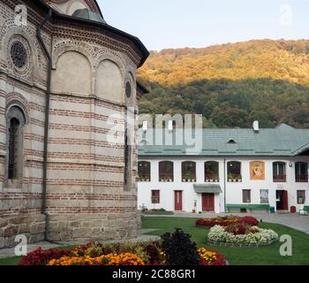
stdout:
{"type": "Polygon", "coordinates": [[[5,178],[4,187],[8,188],[22,188],[23,181],[23,168],[24,168],[24,132],[26,126],[26,111],[20,103],[11,103],[6,111],[6,157],[5,157],[5,178]],[[9,180],[9,149],[10,149],[10,122],[11,119],[19,120],[19,134],[18,134],[18,167],[17,167],[17,178],[9,180]]]}

